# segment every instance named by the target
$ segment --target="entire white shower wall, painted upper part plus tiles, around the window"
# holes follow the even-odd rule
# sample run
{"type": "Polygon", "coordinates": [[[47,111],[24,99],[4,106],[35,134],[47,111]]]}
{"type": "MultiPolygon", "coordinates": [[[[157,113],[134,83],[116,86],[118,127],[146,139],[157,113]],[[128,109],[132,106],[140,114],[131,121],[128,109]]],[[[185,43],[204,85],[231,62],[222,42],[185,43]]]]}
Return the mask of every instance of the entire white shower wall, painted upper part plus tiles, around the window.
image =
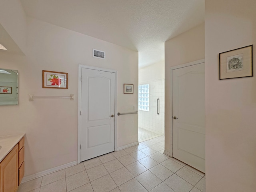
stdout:
{"type": "Polygon", "coordinates": [[[138,126],[164,134],[164,61],[139,69],[139,84],[149,84],[149,111],[138,111],[138,126]],[[159,115],[157,114],[159,98],[159,115]]]}

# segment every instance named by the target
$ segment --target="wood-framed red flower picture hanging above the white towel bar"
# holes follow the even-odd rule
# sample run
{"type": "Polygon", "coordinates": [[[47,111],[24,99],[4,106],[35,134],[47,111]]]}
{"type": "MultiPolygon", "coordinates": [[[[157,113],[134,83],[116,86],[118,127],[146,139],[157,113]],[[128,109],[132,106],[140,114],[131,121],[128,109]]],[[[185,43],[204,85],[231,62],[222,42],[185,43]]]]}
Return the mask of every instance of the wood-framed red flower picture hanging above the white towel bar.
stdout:
{"type": "Polygon", "coordinates": [[[43,88],[67,89],[68,73],[43,70],[43,88]]]}

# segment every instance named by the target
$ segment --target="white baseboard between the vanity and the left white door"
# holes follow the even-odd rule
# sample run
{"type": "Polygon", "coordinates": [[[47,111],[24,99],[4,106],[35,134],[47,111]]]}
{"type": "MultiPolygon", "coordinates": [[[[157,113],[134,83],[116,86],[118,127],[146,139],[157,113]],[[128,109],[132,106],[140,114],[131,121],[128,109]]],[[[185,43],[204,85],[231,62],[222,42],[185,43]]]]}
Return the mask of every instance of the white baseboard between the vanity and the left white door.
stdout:
{"type": "Polygon", "coordinates": [[[56,171],[59,171],[59,170],[71,167],[71,166],[76,165],[76,164],[77,164],[77,161],[73,161],[73,162],[70,162],[70,163],[67,163],[67,164],[64,164],[64,165],[60,165],[58,167],[54,167],[54,168],[51,168],[51,169],[48,169],[48,170],[45,170],[45,171],[41,171],[39,173],[35,173],[35,174],[29,175],[29,176],[25,176],[22,179],[21,183],[24,183],[24,182],[27,182],[27,181],[30,181],[30,180],[33,180],[33,179],[45,176],[47,174],[50,174],[50,173],[53,173],[53,172],[56,172],[56,171]]]}

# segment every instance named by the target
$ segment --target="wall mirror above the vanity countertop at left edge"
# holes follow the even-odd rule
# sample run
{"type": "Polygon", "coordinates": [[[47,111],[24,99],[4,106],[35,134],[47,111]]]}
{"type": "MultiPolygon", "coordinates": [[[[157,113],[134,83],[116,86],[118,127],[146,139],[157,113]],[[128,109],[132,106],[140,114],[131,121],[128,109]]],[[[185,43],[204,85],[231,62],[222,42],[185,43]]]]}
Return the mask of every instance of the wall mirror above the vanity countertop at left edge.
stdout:
{"type": "Polygon", "coordinates": [[[0,69],[0,105],[18,105],[18,70],[0,69]]]}

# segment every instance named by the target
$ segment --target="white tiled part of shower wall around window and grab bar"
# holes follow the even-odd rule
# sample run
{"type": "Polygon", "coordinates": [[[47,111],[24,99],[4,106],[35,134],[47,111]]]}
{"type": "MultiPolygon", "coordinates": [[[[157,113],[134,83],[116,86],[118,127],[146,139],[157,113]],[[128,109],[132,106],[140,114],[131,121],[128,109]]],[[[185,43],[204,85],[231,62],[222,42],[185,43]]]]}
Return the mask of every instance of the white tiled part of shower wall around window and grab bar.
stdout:
{"type": "Polygon", "coordinates": [[[149,112],[138,111],[138,125],[151,132],[164,134],[164,79],[140,83],[142,84],[149,84],[149,112]],[[157,98],[159,98],[159,115],[157,98]]]}

